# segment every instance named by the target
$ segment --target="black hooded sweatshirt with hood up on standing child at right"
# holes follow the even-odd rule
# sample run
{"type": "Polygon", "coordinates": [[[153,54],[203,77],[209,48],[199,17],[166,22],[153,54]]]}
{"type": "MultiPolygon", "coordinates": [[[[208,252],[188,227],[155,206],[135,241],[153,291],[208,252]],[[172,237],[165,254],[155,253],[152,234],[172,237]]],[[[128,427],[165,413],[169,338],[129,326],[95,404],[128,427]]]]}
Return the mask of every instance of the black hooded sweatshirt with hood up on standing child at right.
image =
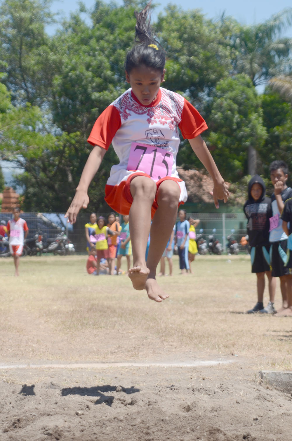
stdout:
{"type": "Polygon", "coordinates": [[[269,218],[273,216],[271,199],[266,197],[266,186],[262,178],[255,175],[248,183],[248,200],[243,206],[244,214],[247,217],[247,234],[251,247],[269,246],[269,218]],[[253,184],[262,186],[262,194],[255,201],[251,196],[253,184]]]}

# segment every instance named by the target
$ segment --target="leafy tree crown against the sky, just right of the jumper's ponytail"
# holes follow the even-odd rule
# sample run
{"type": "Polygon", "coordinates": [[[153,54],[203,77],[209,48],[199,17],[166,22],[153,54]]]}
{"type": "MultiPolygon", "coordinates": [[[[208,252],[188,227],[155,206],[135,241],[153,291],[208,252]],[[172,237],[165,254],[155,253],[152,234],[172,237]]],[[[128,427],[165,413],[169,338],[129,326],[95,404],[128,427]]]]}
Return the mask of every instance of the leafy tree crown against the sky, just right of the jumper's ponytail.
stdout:
{"type": "Polygon", "coordinates": [[[182,11],[168,5],[157,30],[166,51],[165,87],[183,92],[199,105],[231,69],[230,47],[222,44],[221,30],[198,10],[182,11]]]}

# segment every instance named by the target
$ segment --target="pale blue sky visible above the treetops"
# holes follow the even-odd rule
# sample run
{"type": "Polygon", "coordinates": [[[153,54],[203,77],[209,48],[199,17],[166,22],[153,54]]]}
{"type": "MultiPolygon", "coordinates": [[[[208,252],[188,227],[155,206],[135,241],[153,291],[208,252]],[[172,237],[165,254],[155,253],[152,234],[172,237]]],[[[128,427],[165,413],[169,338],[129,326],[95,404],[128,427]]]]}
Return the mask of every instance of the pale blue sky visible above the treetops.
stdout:
{"type": "MultiPolygon", "coordinates": [[[[68,16],[70,12],[78,9],[78,0],[55,0],[52,2],[51,10],[53,12],[62,11],[65,16],[68,16]]],[[[94,0],[83,0],[83,3],[87,8],[92,8],[95,4],[94,0]]],[[[122,4],[121,0],[116,0],[117,4],[122,4]]],[[[167,4],[177,4],[177,2],[168,0],[155,1],[157,4],[153,12],[153,18],[156,14],[167,6],[167,4]]],[[[180,2],[179,2],[180,4],[180,2]]],[[[187,9],[201,9],[202,13],[207,18],[216,19],[224,11],[225,15],[232,15],[237,21],[242,24],[253,24],[263,22],[269,19],[273,14],[282,11],[285,8],[291,7],[291,0],[278,0],[277,2],[271,0],[205,0],[202,4],[195,3],[191,0],[185,0],[183,5],[180,4],[183,10],[187,9]]],[[[288,31],[287,35],[292,37],[292,28],[288,31]]]]}

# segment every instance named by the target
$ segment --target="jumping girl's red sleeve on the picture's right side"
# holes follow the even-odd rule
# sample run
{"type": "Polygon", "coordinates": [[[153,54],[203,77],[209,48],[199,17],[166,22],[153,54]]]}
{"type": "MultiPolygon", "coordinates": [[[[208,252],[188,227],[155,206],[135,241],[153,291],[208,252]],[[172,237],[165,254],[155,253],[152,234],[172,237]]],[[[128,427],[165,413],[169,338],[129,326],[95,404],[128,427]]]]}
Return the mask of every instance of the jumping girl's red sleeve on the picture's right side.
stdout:
{"type": "Polygon", "coordinates": [[[184,139],[193,139],[208,128],[198,110],[185,98],[179,127],[184,139]]]}

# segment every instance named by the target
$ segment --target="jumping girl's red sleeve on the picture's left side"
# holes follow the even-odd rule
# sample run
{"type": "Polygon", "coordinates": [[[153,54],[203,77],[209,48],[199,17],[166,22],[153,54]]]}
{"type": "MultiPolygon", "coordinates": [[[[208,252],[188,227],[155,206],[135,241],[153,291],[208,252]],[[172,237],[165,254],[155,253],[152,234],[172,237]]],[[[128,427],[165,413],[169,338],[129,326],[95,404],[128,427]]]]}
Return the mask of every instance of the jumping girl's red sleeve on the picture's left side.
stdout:
{"type": "Polygon", "coordinates": [[[92,146],[100,146],[107,150],[120,127],[121,118],[118,109],[109,106],[95,121],[87,142],[92,146]]]}

